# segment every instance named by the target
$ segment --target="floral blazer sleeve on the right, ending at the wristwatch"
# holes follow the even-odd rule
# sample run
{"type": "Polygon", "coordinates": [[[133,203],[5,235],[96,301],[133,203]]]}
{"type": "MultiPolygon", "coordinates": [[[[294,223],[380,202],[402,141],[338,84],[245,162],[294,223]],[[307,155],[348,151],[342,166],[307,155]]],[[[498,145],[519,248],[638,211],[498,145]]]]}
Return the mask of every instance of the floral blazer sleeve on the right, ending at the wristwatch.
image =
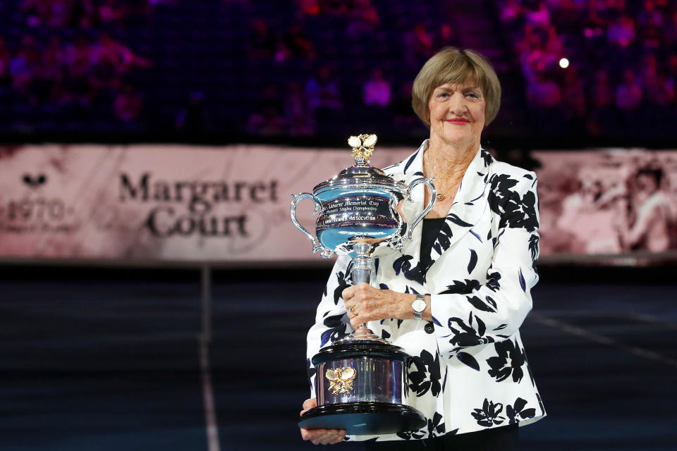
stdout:
{"type": "Polygon", "coordinates": [[[432,295],[431,309],[439,353],[451,358],[465,347],[506,340],[516,333],[532,307],[538,281],[538,197],[535,173],[489,199],[499,212],[499,229],[487,281],[463,294],[432,295]]]}

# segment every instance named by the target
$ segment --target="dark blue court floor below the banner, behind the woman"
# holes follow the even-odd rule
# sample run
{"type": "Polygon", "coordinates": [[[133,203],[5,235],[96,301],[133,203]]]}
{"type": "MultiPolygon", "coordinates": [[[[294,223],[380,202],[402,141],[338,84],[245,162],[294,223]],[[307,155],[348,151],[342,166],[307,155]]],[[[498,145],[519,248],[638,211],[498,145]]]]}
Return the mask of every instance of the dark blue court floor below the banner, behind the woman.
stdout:
{"type": "MultiPolygon", "coordinates": [[[[0,450],[208,449],[199,272],[3,269],[0,450]]],[[[677,449],[677,280],[562,271],[522,328],[549,416],[521,449],[677,449]]],[[[323,272],[214,274],[221,450],[312,449],[295,422],[323,272]]]]}

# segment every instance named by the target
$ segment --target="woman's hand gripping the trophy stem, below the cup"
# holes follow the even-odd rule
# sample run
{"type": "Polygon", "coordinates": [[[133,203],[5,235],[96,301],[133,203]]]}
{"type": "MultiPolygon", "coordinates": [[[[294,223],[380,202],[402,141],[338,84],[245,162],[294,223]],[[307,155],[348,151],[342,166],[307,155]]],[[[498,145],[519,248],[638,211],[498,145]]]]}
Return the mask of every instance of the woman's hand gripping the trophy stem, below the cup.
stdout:
{"type": "Polygon", "coordinates": [[[415,295],[393,290],[379,290],[365,283],[348,287],[341,293],[350,324],[357,329],[367,321],[381,319],[411,319],[411,303],[415,295]]]}

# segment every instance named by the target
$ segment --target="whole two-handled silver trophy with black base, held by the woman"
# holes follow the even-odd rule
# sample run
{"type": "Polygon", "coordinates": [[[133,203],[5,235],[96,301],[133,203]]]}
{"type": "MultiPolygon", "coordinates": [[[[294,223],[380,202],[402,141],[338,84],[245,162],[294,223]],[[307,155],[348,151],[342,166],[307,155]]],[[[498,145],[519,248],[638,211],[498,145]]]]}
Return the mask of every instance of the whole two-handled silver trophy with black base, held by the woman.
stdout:
{"type": "MultiPolygon", "coordinates": [[[[376,135],[351,136],[355,164],[315,186],[312,194],[293,196],[290,214],[296,228],[312,242],[312,252],[323,258],[334,254],[353,259],[350,276],[355,285],[370,284],[372,254],[382,246],[401,249],[414,228],[432,209],[436,192],[432,179],[419,178],[410,185],[370,166],[376,135]],[[413,202],[411,192],[426,185],[432,192],[422,214],[408,222],[403,202],[413,202]],[[319,216],[316,236],[296,219],[296,206],[304,199],[315,202],[319,216]]],[[[407,405],[407,360],[401,347],[380,338],[362,324],[343,340],[322,348],[312,357],[317,369],[317,407],[301,417],[306,429],[345,429],[348,434],[415,431],[425,417],[407,405]]]]}

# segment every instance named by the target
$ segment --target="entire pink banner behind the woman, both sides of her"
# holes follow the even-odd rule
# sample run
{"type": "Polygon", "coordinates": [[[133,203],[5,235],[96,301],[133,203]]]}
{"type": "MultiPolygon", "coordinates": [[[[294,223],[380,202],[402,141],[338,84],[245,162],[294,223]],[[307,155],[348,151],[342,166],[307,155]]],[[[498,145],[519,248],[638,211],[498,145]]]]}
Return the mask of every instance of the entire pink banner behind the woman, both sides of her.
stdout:
{"type": "MultiPolygon", "coordinates": [[[[372,164],[414,150],[377,147],[372,164]]],[[[675,249],[677,152],[532,156],[544,259],[675,249]]],[[[0,259],[319,263],[291,223],[291,194],[351,162],[347,146],[0,148],[0,259]]],[[[310,230],[312,208],[298,208],[310,230]]]]}

